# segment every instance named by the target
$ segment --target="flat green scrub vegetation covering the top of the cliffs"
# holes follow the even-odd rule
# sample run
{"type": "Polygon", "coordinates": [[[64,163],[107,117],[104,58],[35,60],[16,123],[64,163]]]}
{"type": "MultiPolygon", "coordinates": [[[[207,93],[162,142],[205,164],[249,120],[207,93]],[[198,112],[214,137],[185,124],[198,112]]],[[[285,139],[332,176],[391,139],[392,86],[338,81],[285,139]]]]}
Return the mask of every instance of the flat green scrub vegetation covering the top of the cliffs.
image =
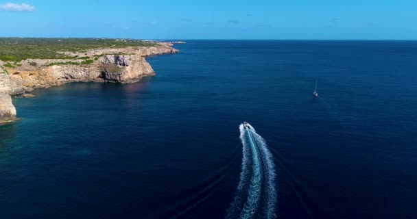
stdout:
{"type": "Polygon", "coordinates": [[[154,45],[153,42],[141,40],[107,38],[0,38],[0,60],[20,62],[26,59],[72,59],[73,57],[59,52],[154,45]]]}

